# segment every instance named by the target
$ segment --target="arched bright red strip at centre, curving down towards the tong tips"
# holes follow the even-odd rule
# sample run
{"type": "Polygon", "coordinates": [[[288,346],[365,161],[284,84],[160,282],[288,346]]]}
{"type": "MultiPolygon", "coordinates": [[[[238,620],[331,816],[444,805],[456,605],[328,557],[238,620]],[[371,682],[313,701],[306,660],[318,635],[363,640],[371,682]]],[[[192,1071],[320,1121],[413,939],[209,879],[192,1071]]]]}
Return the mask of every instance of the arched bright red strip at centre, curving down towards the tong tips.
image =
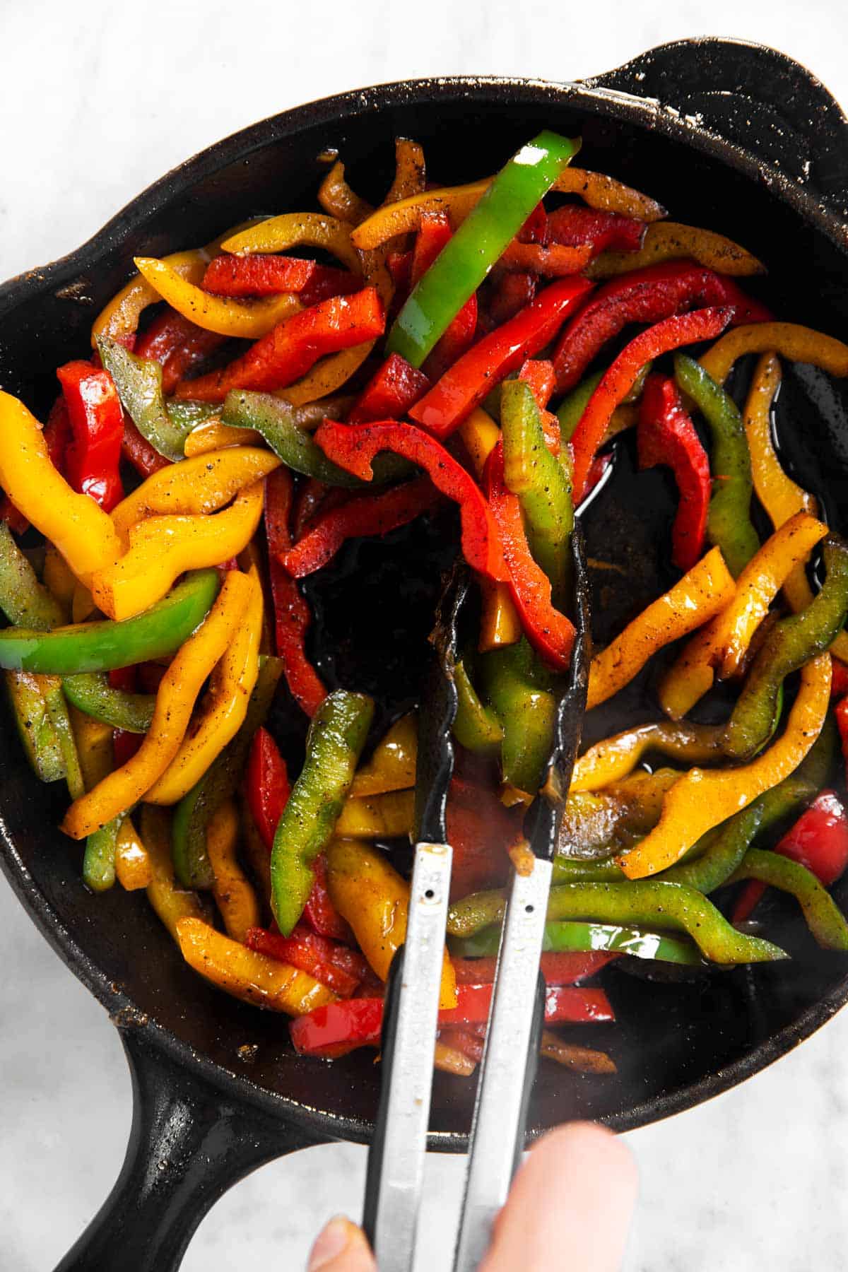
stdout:
{"type": "Polygon", "coordinates": [[[375,424],[324,420],[315,441],[333,463],[364,481],[373,478],[371,462],[380,450],[393,450],[418,464],[442,495],[459,504],[463,555],[468,563],[488,579],[507,580],[497,528],[479,486],[427,432],[394,420],[375,424]]]}

